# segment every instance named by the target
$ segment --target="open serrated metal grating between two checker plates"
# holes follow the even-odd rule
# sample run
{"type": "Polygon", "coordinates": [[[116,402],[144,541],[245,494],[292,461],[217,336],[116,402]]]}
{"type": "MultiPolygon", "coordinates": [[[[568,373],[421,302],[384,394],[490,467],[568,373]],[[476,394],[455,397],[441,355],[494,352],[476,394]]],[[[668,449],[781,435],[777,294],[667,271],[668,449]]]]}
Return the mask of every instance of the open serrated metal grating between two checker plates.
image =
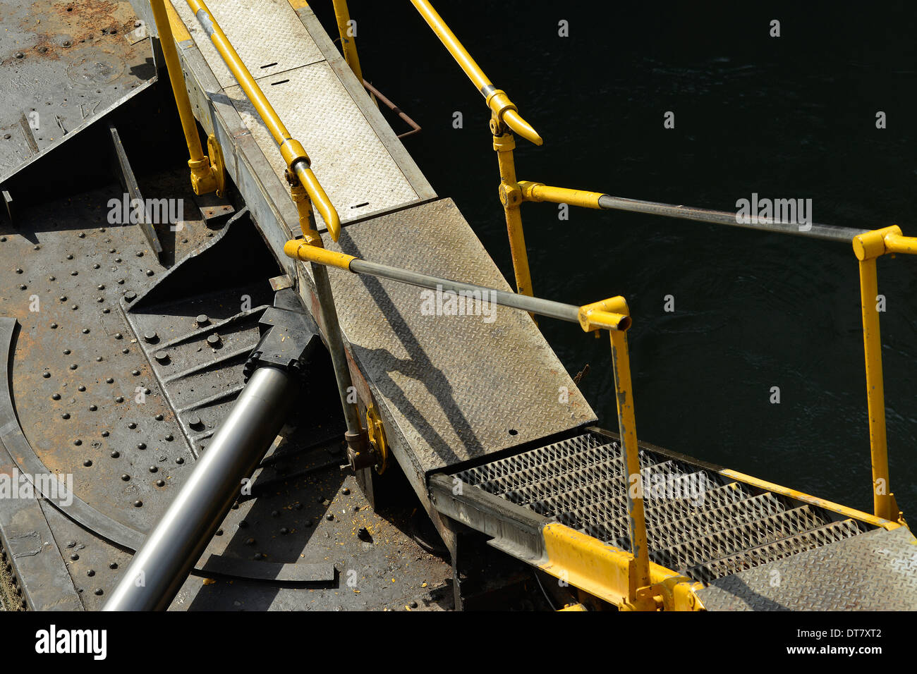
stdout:
{"type": "MultiPolygon", "coordinates": [[[[752,569],[866,530],[821,508],[726,481],[641,448],[650,558],[695,580],[752,569]]],[[[484,492],[630,549],[624,458],[618,442],[587,432],[456,473],[484,492]]]]}

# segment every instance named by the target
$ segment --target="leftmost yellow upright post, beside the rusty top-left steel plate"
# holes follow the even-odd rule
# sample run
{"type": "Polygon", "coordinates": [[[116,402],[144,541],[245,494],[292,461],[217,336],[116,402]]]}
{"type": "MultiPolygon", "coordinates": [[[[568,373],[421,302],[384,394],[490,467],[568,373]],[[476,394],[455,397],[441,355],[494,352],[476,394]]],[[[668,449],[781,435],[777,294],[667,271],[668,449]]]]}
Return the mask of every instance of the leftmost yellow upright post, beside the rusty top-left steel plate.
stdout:
{"type": "MultiPolygon", "coordinates": [[[[191,169],[192,188],[195,194],[214,192],[217,188],[217,176],[210,165],[210,159],[201,148],[201,138],[197,135],[197,121],[191,110],[191,101],[188,98],[188,90],[185,88],[182,76],[182,64],[178,59],[178,51],[175,49],[175,39],[172,37],[164,0],[150,0],[149,6],[153,10],[162,55],[165,57],[169,81],[172,92],[175,94],[175,105],[178,107],[178,116],[182,120],[184,140],[188,145],[188,156],[190,157],[188,167],[191,169]]],[[[219,170],[222,171],[222,167],[219,167],[219,170]]]]}

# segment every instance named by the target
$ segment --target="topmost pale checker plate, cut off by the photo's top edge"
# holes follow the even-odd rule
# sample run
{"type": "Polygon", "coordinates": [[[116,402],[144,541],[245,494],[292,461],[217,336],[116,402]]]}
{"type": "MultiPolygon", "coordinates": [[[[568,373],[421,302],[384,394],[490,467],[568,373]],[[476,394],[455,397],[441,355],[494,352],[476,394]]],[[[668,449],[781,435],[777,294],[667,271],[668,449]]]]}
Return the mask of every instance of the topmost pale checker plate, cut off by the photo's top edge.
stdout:
{"type": "MultiPolygon", "coordinates": [[[[172,6],[182,17],[220,86],[236,84],[236,78],[226,68],[188,4],[175,0],[172,6]]],[[[322,50],[286,0],[261,0],[254,5],[238,0],[210,0],[207,7],[256,80],[325,60],[322,50]]]]}

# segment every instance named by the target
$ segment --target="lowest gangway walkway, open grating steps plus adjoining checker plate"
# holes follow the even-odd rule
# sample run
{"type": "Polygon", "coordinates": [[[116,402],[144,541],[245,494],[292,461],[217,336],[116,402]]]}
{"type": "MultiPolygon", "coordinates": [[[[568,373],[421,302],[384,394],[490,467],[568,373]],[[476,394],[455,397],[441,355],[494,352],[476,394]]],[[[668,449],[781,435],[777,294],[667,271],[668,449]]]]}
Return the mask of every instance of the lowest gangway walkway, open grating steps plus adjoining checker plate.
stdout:
{"type": "MultiPolygon", "coordinates": [[[[917,540],[642,445],[649,556],[708,586],[707,610],[917,608],[917,540]]],[[[589,432],[455,477],[630,549],[622,450],[589,432]]]]}

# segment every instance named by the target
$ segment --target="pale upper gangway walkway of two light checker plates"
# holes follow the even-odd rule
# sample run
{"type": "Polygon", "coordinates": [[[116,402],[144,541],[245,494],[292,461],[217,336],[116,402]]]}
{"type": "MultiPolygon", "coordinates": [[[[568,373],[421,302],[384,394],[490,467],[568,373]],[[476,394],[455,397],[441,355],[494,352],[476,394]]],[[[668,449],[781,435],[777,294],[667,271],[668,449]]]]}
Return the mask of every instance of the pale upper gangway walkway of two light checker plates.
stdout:
{"type": "MultiPolygon", "coordinates": [[[[173,5],[223,88],[222,95],[232,102],[277,180],[285,185],[286,165],[270,132],[187,3],[173,5]]],[[[323,53],[289,3],[269,0],[252,7],[238,0],[214,0],[207,5],[293,138],[303,143],[342,222],[418,199],[391,148],[367,119],[361,104],[369,97],[359,94],[366,100],[355,100],[341,81],[342,72],[332,68],[333,57],[323,53]]],[[[343,74],[353,78],[352,73],[343,74]]],[[[260,180],[267,176],[260,175],[260,180]]],[[[320,215],[316,220],[324,227],[320,215]]]]}

